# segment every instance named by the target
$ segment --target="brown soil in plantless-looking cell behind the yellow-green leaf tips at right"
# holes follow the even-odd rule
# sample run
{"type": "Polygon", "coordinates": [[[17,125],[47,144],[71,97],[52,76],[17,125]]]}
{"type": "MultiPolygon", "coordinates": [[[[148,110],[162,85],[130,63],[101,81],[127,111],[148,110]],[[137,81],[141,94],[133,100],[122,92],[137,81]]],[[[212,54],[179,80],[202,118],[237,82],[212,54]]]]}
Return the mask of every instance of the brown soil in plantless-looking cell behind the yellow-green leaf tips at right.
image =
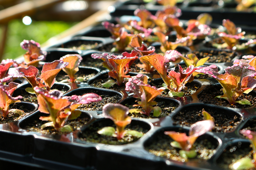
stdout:
{"type": "Polygon", "coordinates": [[[231,62],[233,58],[236,57],[236,52],[220,51],[220,50],[202,50],[193,52],[197,58],[205,58],[210,56],[207,60],[208,63],[227,63],[231,62]]]}

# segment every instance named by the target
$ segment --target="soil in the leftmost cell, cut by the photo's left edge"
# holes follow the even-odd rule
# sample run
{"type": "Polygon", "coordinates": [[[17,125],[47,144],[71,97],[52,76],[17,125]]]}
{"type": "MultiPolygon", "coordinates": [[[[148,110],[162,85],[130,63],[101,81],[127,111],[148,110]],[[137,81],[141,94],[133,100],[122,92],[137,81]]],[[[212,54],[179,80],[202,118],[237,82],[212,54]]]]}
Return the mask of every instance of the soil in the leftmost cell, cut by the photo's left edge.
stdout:
{"type": "Polygon", "coordinates": [[[32,110],[26,109],[26,107],[19,102],[10,104],[9,110],[10,109],[19,109],[19,110],[22,110],[24,113],[20,115],[18,113],[9,112],[7,117],[5,118],[3,116],[0,117],[0,124],[16,122],[22,119],[23,117],[29,115],[32,111],[32,110]]]}

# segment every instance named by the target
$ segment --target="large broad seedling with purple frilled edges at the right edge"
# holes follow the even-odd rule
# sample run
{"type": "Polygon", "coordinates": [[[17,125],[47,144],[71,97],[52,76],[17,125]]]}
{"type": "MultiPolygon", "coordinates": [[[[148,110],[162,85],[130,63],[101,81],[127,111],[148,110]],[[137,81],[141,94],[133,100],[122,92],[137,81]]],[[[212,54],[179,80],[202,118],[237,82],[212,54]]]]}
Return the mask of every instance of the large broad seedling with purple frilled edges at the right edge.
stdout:
{"type": "MultiPolygon", "coordinates": [[[[216,96],[217,98],[223,98],[228,100],[230,104],[248,104],[251,105],[250,101],[244,99],[236,101],[236,99],[242,93],[249,93],[256,86],[256,80],[253,78],[256,75],[254,67],[247,63],[234,64],[232,67],[225,69],[225,74],[219,74],[213,71],[213,65],[209,67],[201,68],[196,72],[209,74],[222,86],[223,95],[216,96]]],[[[215,66],[216,68],[217,66],[215,66]]]]}

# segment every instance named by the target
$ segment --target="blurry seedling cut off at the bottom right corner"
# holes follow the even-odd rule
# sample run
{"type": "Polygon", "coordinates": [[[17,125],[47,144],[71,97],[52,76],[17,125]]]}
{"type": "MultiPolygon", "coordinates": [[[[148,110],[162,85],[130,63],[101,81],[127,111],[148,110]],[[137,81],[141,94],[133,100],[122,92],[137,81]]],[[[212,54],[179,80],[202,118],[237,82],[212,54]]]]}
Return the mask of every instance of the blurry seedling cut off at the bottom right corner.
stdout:
{"type": "Polygon", "coordinates": [[[252,149],[254,151],[254,153],[252,154],[253,159],[249,158],[249,157],[244,157],[241,159],[238,159],[236,162],[234,162],[233,164],[231,164],[232,169],[234,170],[245,170],[245,169],[253,169],[254,167],[256,167],[255,164],[255,160],[256,160],[256,133],[254,131],[251,130],[240,130],[239,131],[242,135],[244,135],[245,137],[247,137],[251,144],[252,144],[252,149]]]}

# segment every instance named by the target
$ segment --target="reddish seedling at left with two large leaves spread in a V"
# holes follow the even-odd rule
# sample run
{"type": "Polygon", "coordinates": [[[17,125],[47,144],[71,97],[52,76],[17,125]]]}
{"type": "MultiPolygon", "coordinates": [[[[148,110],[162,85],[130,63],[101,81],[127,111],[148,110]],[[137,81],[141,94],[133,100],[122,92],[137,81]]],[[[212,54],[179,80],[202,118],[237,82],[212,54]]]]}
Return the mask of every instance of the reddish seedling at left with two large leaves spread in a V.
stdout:
{"type": "MultiPolygon", "coordinates": [[[[52,63],[45,63],[41,71],[40,78],[37,77],[38,69],[34,66],[28,66],[28,68],[17,68],[18,73],[26,78],[26,80],[32,85],[32,88],[27,88],[28,92],[34,92],[34,87],[46,87],[47,91],[51,90],[52,85],[55,82],[55,77],[60,70],[68,65],[67,62],[62,60],[55,60],[52,63]]],[[[36,93],[36,95],[38,95],[36,93]]]]}

